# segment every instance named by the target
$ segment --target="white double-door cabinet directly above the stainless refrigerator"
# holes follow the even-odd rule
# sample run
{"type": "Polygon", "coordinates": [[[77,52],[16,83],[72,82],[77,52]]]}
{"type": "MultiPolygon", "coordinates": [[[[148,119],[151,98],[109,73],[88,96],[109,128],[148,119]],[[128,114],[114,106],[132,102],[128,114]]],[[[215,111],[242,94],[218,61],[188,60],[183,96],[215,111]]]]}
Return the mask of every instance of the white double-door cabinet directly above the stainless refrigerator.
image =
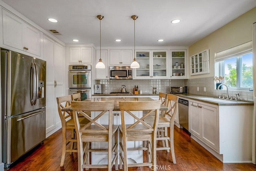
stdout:
{"type": "Polygon", "coordinates": [[[3,43],[7,46],[40,56],[41,32],[4,9],[2,14],[3,43]]]}

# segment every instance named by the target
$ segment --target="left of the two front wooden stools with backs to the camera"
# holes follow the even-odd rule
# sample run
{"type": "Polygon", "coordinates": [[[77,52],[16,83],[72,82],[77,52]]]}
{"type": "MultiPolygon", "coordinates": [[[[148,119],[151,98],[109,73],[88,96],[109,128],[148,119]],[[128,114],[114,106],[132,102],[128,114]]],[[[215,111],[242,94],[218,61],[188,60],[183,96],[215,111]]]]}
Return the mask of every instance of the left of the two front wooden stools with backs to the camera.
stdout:
{"type": "Polygon", "coordinates": [[[118,125],[113,125],[114,101],[71,101],[71,107],[78,139],[78,171],[82,171],[83,168],[108,168],[108,171],[111,171],[114,164],[115,169],[118,170],[118,125]],[[101,113],[92,119],[85,111],[101,113]],[[85,126],[80,125],[78,114],[83,115],[90,122],[85,126]],[[103,115],[108,115],[108,125],[98,122],[103,115]],[[90,142],[108,142],[108,148],[92,149],[89,146],[90,142]],[[108,151],[108,164],[90,164],[89,157],[92,151],[108,151]],[[113,159],[112,153],[114,153],[113,159]]]}

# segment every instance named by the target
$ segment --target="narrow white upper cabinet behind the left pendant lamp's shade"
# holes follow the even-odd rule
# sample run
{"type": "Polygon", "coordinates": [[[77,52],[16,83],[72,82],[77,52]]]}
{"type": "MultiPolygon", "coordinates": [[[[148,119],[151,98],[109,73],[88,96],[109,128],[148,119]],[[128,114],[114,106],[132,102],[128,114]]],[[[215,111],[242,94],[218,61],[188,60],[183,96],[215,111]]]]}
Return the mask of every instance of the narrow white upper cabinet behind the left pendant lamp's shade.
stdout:
{"type": "MultiPolygon", "coordinates": [[[[100,59],[100,50],[96,50],[95,64],[98,63],[100,59]]],[[[108,80],[108,50],[101,50],[101,59],[105,65],[105,68],[95,68],[95,80],[108,80]]]]}

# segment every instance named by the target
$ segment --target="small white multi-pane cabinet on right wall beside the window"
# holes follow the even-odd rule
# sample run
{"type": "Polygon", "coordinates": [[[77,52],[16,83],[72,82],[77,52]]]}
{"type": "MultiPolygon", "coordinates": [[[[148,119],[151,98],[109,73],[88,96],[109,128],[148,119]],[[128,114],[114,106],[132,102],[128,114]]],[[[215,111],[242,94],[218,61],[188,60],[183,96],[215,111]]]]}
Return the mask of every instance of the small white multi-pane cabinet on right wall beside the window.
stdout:
{"type": "Polygon", "coordinates": [[[190,75],[210,73],[209,64],[209,49],[190,56],[190,75]]]}

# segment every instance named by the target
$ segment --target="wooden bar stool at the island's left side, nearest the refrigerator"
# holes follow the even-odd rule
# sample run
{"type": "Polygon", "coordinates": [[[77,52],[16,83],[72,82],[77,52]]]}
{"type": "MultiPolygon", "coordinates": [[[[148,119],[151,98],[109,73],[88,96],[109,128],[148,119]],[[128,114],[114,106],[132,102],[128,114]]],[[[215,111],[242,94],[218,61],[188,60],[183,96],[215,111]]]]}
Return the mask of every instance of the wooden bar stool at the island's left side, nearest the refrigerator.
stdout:
{"type": "MultiPolygon", "coordinates": [[[[58,113],[60,116],[60,121],[62,125],[62,156],[60,161],[60,167],[64,165],[66,152],[77,152],[77,149],[74,149],[74,143],[77,142],[76,133],[75,133],[75,123],[73,119],[73,115],[71,111],[61,111],[63,107],[67,107],[70,105],[70,101],[72,100],[71,95],[66,95],[62,97],[56,97],[57,105],[58,105],[58,113]],[[70,129],[72,131],[71,137],[67,137],[67,130],[70,129]],[[70,149],[67,149],[67,145],[70,143],[70,149]]],[[[81,125],[86,125],[89,121],[84,118],[80,118],[79,122],[81,125]]]]}

